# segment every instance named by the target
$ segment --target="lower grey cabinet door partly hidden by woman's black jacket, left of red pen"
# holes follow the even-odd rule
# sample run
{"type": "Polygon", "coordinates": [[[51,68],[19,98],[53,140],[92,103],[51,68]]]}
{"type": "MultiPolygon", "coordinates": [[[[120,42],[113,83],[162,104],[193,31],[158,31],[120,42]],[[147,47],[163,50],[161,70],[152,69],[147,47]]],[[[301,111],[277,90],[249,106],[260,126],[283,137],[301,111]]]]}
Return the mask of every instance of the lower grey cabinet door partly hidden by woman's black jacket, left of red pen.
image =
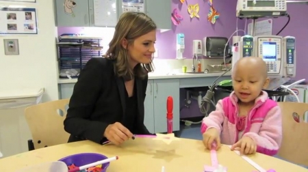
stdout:
{"type": "Polygon", "coordinates": [[[146,98],[144,100],[144,125],[149,132],[155,133],[153,80],[149,80],[148,87],[146,87],[146,98]]]}

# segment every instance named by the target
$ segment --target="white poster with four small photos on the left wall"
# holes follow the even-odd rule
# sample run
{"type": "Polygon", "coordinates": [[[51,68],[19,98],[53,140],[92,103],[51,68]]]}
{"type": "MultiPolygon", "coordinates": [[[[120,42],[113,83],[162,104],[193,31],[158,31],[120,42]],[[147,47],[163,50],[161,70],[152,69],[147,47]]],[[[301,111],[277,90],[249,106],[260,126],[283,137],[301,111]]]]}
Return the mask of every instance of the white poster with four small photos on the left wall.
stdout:
{"type": "Polygon", "coordinates": [[[35,8],[0,8],[0,34],[38,34],[35,8]]]}

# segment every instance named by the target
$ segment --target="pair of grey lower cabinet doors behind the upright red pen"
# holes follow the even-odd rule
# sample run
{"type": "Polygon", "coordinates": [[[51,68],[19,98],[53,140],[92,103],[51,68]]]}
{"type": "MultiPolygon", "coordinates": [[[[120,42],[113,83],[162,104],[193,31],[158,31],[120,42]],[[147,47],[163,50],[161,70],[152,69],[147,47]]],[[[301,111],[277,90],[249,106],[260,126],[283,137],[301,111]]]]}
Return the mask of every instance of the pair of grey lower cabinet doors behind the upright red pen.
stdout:
{"type": "MultiPolygon", "coordinates": [[[[173,130],[179,130],[179,79],[149,80],[144,100],[144,124],[154,119],[154,133],[167,132],[166,101],[168,96],[173,98],[173,130]]],[[[146,125],[148,126],[152,127],[150,124],[146,125]]]]}

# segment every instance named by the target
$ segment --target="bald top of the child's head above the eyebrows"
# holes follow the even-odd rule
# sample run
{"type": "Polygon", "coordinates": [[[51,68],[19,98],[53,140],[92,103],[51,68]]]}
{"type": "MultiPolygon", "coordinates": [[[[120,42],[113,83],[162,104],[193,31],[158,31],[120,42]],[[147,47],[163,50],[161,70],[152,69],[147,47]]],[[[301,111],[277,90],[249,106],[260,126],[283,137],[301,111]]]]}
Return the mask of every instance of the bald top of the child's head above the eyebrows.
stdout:
{"type": "Polygon", "coordinates": [[[261,76],[264,77],[264,79],[268,78],[268,70],[266,62],[259,57],[241,58],[235,63],[232,70],[232,75],[235,74],[237,71],[260,74],[261,76]]]}

